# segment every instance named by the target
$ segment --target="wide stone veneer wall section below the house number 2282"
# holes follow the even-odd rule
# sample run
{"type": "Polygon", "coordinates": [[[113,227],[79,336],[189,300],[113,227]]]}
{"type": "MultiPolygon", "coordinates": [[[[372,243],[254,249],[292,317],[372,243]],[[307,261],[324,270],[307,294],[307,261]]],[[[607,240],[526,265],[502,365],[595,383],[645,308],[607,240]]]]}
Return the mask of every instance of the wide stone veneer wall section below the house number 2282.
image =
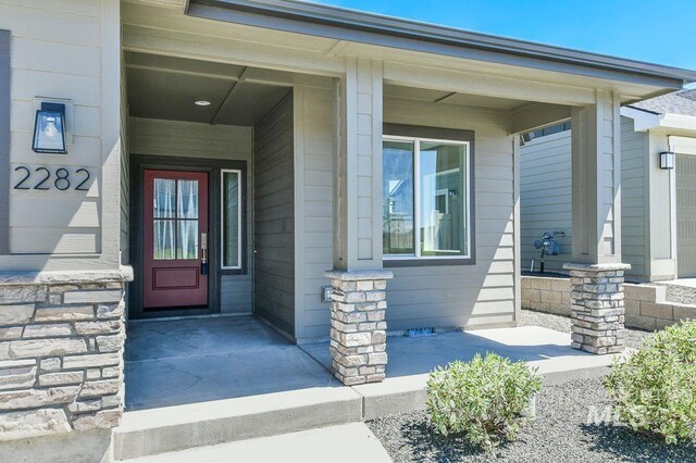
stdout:
{"type": "Polygon", "coordinates": [[[119,425],[130,278],[0,273],[0,441],[119,425]]]}

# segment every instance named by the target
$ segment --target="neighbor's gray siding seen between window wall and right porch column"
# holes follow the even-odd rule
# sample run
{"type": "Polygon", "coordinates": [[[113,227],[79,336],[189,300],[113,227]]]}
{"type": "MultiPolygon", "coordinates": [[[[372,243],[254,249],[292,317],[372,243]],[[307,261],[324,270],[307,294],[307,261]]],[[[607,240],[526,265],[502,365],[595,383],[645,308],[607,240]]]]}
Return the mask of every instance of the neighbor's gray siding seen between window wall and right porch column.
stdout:
{"type": "Polygon", "coordinates": [[[561,271],[572,253],[571,132],[537,137],[520,149],[520,224],[522,270],[539,268],[534,240],[544,232],[558,235],[559,255],[545,258],[546,271],[561,271]]]}

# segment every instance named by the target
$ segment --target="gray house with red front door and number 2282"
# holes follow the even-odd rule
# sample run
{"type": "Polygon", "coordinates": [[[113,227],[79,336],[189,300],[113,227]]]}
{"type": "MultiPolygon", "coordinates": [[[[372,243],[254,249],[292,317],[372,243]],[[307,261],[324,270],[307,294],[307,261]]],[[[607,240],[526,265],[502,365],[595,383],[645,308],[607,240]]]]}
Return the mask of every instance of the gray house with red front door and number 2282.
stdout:
{"type": "MultiPolygon", "coordinates": [[[[125,316],[253,313],[345,384],[387,331],[515,326],[519,137],[569,118],[569,264],[621,281],[620,108],[696,79],[283,0],[5,0],[0,29],[3,456],[108,447],[125,316]]],[[[573,347],[623,349],[621,291],[574,300],[573,347]]]]}

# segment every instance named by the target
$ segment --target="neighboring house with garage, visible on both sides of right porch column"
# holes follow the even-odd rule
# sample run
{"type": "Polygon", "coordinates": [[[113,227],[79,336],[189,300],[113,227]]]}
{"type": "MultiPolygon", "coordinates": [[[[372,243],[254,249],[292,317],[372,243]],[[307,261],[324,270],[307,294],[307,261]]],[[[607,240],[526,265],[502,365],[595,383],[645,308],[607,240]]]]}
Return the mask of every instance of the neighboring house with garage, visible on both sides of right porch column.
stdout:
{"type": "MultiPolygon", "coordinates": [[[[521,149],[522,266],[539,268],[533,246],[559,233],[560,254],[546,268],[561,271],[572,253],[571,124],[527,134],[521,149]]],[[[623,261],[627,279],[696,277],[696,90],[681,90],[621,108],[623,261]],[[660,153],[673,152],[672,170],[660,153]]]]}

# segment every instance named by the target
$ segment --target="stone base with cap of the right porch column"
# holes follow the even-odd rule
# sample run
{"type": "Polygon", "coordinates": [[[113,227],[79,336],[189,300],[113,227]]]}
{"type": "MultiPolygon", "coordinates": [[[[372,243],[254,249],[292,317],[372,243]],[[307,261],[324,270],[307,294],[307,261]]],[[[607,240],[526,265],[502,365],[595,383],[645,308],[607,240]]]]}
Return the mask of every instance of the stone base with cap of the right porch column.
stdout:
{"type": "Polygon", "coordinates": [[[624,349],[623,272],[630,264],[564,264],[570,271],[572,347],[591,353],[624,349]]]}

